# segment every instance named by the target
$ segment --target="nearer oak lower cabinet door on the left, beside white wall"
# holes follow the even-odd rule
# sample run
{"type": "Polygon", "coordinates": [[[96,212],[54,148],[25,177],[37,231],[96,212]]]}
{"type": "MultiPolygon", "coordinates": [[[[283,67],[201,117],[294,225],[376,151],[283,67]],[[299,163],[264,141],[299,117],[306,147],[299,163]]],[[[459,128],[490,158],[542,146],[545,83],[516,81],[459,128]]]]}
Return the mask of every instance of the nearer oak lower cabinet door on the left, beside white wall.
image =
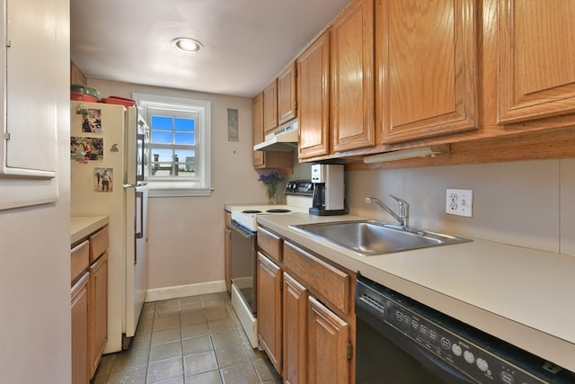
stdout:
{"type": "Polygon", "coordinates": [[[88,272],[72,287],[72,384],[87,384],[88,372],[88,272]]]}

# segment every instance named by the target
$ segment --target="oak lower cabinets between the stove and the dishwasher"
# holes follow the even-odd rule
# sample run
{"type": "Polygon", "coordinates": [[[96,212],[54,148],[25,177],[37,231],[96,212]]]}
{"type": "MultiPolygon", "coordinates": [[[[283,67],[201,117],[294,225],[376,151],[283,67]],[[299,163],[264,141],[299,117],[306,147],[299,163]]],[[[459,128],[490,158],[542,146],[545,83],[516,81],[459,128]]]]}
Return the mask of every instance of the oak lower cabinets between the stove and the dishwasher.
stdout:
{"type": "MultiPolygon", "coordinates": [[[[263,228],[258,228],[265,231],[263,228]]],[[[258,333],[285,383],[351,383],[355,315],[355,273],[344,271],[277,237],[275,246],[259,245],[258,333]],[[281,260],[282,262],[280,262],[281,260]],[[315,277],[315,278],[314,278],[315,277]]]]}

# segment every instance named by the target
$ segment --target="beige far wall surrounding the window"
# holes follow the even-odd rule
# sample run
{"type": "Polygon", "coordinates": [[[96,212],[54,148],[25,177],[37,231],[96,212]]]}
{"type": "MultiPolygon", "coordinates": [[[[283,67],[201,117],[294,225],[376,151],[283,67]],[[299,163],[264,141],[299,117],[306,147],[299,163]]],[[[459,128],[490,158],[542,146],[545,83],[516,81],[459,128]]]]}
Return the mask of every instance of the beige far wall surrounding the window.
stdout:
{"type": "MultiPolygon", "coordinates": [[[[252,167],[252,99],[89,79],[102,96],[162,94],[212,103],[209,197],[149,201],[148,289],[224,280],[224,204],[267,201],[252,167]],[[227,109],[237,109],[239,142],[227,141],[227,109]]],[[[269,171],[265,171],[269,172],[269,171]]]]}

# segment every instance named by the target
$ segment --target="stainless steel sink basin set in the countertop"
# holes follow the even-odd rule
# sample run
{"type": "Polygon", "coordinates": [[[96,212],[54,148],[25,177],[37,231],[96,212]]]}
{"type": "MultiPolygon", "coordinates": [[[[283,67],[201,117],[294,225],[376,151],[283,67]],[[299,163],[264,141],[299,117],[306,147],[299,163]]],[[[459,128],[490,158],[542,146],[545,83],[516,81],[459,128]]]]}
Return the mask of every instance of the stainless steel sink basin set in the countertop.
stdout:
{"type": "Polygon", "coordinates": [[[377,220],[335,221],[289,227],[314,237],[321,237],[336,246],[343,246],[364,256],[385,255],[472,241],[463,237],[453,237],[416,228],[404,228],[377,220]]]}

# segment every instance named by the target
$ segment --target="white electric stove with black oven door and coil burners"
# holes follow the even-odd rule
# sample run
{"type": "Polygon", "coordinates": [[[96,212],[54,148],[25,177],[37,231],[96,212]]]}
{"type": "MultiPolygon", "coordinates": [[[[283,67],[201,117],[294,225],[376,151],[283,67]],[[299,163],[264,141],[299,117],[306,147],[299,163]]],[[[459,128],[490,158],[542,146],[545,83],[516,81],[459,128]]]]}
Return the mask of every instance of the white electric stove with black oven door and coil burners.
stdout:
{"type": "Polygon", "coordinates": [[[287,204],[250,204],[231,206],[232,234],[230,271],[232,306],[243,330],[255,348],[257,335],[257,218],[261,215],[289,215],[307,212],[312,206],[313,184],[310,181],[288,181],[287,204]]]}

